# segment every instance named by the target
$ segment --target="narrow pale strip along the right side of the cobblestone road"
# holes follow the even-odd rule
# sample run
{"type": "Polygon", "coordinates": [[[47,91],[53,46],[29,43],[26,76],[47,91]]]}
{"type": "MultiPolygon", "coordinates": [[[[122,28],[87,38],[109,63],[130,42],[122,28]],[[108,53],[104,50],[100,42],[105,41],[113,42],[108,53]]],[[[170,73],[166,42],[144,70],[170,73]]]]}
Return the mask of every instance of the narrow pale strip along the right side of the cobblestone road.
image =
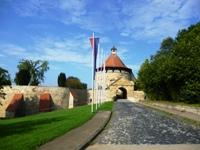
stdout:
{"type": "Polygon", "coordinates": [[[180,110],[168,108],[167,106],[166,107],[155,106],[153,104],[147,104],[147,103],[144,103],[144,102],[139,102],[138,104],[141,104],[141,105],[144,105],[144,106],[147,106],[147,107],[151,107],[151,108],[154,108],[154,109],[158,109],[158,110],[161,110],[161,111],[165,111],[165,112],[168,112],[168,113],[171,113],[171,114],[174,114],[174,115],[178,115],[178,116],[183,117],[183,118],[187,118],[187,119],[190,119],[190,120],[200,122],[200,115],[198,115],[198,114],[193,114],[193,113],[186,112],[186,111],[183,112],[183,111],[180,111],[180,110]]]}

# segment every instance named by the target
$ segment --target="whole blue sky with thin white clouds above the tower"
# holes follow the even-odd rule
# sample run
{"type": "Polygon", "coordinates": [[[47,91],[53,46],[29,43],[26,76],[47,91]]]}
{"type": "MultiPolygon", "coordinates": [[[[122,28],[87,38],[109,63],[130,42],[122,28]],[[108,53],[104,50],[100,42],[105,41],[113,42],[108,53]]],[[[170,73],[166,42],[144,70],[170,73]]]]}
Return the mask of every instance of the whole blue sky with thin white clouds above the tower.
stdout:
{"type": "Polygon", "coordinates": [[[21,59],[47,60],[42,85],[77,76],[91,85],[92,32],[136,75],[163,38],[200,21],[199,0],[0,0],[0,66],[14,79],[21,59]]]}

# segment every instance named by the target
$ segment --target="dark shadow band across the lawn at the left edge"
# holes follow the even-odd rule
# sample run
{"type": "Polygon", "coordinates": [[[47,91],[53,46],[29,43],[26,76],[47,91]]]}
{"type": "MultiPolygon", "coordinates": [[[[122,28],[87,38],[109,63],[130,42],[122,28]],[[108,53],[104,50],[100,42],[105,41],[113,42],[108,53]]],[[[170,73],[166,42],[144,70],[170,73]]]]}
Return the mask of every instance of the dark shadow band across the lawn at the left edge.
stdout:
{"type": "Polygon", "coordinates": [[[54,122],[63,121],[65,117],[53,117],[37,120],[29,120],[23,122],[13,122],[9,124],[0,124],[1,137],[10,136],[13,134],[28,133],[32,132],[34,129],[39,128],[45,124],[50,124],[54,122]]]}

